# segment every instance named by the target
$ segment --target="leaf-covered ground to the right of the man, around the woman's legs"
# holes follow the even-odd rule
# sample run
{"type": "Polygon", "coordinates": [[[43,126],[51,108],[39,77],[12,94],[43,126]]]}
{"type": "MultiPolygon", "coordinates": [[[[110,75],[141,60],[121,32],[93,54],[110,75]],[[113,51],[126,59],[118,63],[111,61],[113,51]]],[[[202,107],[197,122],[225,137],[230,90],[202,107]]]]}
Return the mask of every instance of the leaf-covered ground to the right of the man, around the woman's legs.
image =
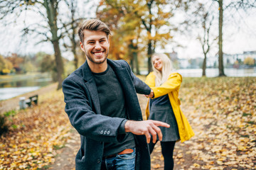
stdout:
{"type": "MultiPolygon", "coordinates": [[[[184,78],[181,109],[196,133],[177,142],[175,169],[256,169],[256,78],[184,78]]],[[[163,169],[161,147],[152,169],[163,169]]]]}

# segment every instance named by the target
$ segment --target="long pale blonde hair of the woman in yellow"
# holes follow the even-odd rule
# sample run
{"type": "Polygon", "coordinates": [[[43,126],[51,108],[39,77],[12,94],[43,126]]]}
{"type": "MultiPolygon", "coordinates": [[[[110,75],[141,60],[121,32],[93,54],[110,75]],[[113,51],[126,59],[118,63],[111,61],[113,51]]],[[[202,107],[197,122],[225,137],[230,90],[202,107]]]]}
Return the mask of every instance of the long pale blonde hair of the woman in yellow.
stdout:
{"type": "Polygon", "coordinates": [[[160,86],[161,84],[163,84],[169,78],[169,75],[172,72],[174,72],[174,67],[173,67],[173,64],[172,64],[170,58],[163,53],[154,53],[151,57],[151,64],[153,67],[153,72],[156,75],[156,79],[155,79],[156,86],[160,86]],[[162,67],[161,72],[159,72],[159,70],[157,70],[154,67],[153,58],[155,56],[159,57],[162,61],[163,67],[162,67]]]}

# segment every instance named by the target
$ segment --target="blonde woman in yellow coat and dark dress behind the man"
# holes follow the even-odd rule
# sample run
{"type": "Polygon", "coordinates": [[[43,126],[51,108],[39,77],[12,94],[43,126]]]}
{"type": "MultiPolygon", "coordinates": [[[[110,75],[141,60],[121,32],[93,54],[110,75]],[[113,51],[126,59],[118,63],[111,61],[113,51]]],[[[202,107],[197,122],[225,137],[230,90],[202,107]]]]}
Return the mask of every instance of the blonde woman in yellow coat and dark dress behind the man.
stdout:
{"type": "MultiPolygon", "coordinates": [[[[171,60],[164,54],[152,55],[151,63],[153,72],[146,77],[145,83],[154,91],[154,97],[149,98],[146,117],[170,125],[170,128],[159,127],[163,134],[161,151],[164,156],[164,170],[170,170],[174,169],[173,152],[176,141],[189,140],[194,132],[180,108],[178,89],[182,82],[181,74],[173,72],[171,60]]],[[[149,143],[150,153],[153,152],[155,144],[152,140],[149,143]]]]}

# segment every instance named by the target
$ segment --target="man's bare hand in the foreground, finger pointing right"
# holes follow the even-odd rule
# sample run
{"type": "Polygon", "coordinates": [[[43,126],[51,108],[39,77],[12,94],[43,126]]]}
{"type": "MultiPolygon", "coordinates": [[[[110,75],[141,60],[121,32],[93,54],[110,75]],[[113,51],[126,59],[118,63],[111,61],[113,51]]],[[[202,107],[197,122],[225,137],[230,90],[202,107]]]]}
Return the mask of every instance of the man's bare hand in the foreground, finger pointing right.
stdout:
{"type": "Polygon", "coordinates": [[[170,127],[169,124],[163,123],[157,120],[143,120],[143,121],[128,120],[124,125],[124,129],[125,129],[125,132],[132,132],[135,135],[145,135],[147,143],[150,142],[150,138],[152,135],[153,142],[155,143],[156,135],[159,136],[160,141],[163,138],[163,135],[161,133],[159,126],[162,126],[165,128],[170,127]]]}

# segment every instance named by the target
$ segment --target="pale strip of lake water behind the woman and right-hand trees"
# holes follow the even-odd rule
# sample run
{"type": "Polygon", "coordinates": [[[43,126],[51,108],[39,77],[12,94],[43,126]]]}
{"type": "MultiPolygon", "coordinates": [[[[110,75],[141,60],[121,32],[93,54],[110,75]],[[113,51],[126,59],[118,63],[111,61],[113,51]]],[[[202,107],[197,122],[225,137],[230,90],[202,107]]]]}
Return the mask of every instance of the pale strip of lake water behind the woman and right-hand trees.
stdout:
{"type": "MultiPolygon", "coordinates": [[[[202,77],[202,69],[177,69],[176,72],[182,77],[202,77]]],[[[146,75],[146,72],[141,72],[146,75]]],[[[252,69],[224,69],[224,73],[228,77],[256,77],[256,67],[252,69]]],[[[206,77],[218,77],[218,69],[206,69],[206,77]]]]}

